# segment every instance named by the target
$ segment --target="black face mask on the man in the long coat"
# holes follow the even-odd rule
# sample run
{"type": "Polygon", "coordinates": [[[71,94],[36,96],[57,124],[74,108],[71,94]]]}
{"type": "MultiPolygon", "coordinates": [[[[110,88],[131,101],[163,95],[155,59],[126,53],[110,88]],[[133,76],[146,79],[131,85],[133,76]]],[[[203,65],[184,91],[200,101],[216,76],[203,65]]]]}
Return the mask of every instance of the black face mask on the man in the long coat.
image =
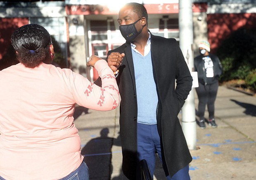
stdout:
{"type": "Polygon", "coordinates": [[[140,20],[141,18],[132,24],[119,26],[119,30],[121,31],[122,36],[124,37],[124,39],[126,39],[127,42],[132,42],[142,32],[142,29],[145,27],[144,25],[140,32],[137,32],[135,24],[140,20]]]}

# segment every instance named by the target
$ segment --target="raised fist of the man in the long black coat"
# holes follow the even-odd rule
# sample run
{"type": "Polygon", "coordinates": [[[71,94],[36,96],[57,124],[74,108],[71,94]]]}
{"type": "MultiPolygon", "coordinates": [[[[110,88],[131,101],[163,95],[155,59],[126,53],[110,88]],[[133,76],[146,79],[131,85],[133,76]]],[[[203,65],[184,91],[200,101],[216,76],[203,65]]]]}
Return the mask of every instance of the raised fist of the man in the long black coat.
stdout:
{"type": "Polygon", "coordinates": [[[123,57],[125,56],[124,53],[120,54],[118,52],[110,53],[107,62],[109,67],[112,69],[113,72],[116,72],[119,66],[121,66],[123,62],[123,57]]]}

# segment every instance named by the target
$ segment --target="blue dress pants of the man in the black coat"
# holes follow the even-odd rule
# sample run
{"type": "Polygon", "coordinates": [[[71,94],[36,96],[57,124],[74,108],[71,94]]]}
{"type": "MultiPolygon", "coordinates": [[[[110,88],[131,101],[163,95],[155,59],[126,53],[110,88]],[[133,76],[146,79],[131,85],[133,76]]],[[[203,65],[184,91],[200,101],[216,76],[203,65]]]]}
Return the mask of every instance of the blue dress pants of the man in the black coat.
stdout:
{"type": "MultiPolygon", "coordinates": [[[[161,156],[161,143],[160,136],[158,133],[157,125],[146,125],[137,123],[137,158],[138,160],[145,159],[149,166],[149,171],[154,175],[155,170],[155,153],[157,152],[160,162],[162,162],[161,156]]],[[[163,167],[164,171],[167,172],[167,168],[163,167]]],[[[189,166],[185,166],[180,169],[173,177],[167,176],[168,180],[190,180],[189,166]]],[[[168,173],[166,173],[168,174],[168,173]]]]}

